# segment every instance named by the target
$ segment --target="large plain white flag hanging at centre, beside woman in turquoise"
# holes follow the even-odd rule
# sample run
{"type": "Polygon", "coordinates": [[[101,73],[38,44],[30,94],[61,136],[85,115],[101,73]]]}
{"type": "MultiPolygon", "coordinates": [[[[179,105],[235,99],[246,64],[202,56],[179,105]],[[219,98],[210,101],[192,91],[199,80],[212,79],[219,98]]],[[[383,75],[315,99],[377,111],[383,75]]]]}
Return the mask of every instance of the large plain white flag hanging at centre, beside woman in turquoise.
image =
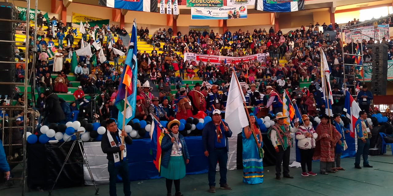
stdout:
{"type": "Polygon", "coordinates": [[[248,117],[243,104],[244,100],[246,98],[244,98],[244,94],[240,90],[239,81],[233,71],[225,109],[225,122],[228,123],[233,135],[239,134],[242,132],[243,127],[248,126],[248,117]]]}

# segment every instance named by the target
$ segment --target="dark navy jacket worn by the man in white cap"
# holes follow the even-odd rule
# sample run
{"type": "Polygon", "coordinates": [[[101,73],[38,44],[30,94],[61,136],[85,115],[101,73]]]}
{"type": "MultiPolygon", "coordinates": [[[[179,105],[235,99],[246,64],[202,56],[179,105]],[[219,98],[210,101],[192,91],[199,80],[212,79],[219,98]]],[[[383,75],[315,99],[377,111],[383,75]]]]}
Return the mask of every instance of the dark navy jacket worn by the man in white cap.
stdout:
{"type": "MultiPolygon", "coordinates": [[[[228,127],[228,123],[224,122],[225,126],[228,127]]],[[[224,132],[225,136],[225,146],[226,150],[229,152],[228,138],[232,136],[232,131],[228,127],[228,131],[224,130],[224,126],[222,123],[220,124],[220,129],[224,132]]],[[[212,151],[214,150],[215,140],[217,139],[217,132],[214,123],[208,122],[202,131],[202,142],[203,142],[203,150],[204,151],[212,151]]]]}

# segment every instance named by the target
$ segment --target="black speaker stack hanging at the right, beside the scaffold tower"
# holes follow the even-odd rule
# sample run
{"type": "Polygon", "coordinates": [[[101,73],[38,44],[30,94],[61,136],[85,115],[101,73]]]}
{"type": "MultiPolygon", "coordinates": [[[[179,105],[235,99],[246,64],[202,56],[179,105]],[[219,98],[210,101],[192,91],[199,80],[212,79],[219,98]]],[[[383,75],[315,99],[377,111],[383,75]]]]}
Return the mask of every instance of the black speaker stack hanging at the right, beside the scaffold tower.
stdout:
{"type": "Polygon", "coordinates": [[[373,49],[373,69],[371,75],[371,92],[376,95],[386,95],[387,88],[387,52],[386,44],[367,46],[373,49]]]}

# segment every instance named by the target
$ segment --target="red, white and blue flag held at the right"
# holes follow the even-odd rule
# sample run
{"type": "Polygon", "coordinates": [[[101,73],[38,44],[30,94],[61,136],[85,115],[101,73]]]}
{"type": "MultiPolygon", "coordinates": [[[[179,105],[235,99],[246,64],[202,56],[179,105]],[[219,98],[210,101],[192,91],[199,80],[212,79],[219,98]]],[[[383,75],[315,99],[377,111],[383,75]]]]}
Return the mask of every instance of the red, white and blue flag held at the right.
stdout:
{"type": "Polygon", "coordinates": [[[350,135],[352,138],[355,138],[355,123],[359,118],[359,112],[361,110],[358,103],[356,103],[351,94],[349,94],[348,90],[345,90],[343,111],[347,113],[346,116],[351,120],[351,125],[349,126],[349,130],[351,130],[350,135]]]}

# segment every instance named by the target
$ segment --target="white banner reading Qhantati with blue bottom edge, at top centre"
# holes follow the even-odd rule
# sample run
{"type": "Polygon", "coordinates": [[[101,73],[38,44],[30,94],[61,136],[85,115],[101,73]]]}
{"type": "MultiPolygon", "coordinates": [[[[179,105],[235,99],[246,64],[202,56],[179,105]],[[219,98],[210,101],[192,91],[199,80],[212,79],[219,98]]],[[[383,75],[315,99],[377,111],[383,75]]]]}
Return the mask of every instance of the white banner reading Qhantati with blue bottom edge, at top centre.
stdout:
{"type": "Polygon", "coordinates": [[[196,20],[222,20],[247,18],[246,6],[235,7],[193,7],[191,8],[191,19],[196,20]]]}

